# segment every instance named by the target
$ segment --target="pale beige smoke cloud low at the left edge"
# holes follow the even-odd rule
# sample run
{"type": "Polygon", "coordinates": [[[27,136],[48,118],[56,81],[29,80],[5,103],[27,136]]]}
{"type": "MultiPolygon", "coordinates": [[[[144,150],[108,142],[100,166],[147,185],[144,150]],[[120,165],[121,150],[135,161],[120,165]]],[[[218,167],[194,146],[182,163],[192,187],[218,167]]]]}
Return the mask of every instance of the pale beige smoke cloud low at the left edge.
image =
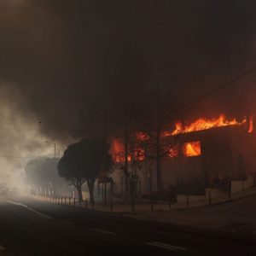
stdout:
{"type": "Polygon", "coordinates": [[[26,98],[15,85],[0,81],[0,90],[0,183],[24,189],[26,162],[38,156],[53,157],[54,146],[45,143],[48,137],[40,132],[37,116],[26,108],[26,98]]]}

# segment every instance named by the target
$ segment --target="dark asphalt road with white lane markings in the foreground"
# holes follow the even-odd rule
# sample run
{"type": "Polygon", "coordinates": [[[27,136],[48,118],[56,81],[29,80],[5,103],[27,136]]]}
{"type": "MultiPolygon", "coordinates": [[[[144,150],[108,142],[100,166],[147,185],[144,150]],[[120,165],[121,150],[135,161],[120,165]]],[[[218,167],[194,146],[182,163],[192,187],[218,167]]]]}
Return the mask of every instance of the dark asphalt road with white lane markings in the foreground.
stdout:
{"type": "Polygon", "coordinates": [[[251,239],[1,198],[0,255],[256,255],[251,239]]]}

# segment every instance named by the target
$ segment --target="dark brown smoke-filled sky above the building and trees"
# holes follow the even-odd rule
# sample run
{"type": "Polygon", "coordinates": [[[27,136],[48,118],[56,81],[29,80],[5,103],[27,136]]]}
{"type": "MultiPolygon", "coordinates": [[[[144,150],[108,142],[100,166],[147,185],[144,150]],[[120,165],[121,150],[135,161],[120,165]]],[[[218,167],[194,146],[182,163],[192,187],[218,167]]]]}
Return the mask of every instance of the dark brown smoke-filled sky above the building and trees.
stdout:
{"type": "MultiPolygon", "coordinates": [[[[255,10],[253,0],[1,0],[0,154],[52,154],[52,143],[154,119],[157,88],[170,121],[253,111],[255,73],[178,109],[255,67],[255,10]]],[[[7,176],[24,165],[0,163],[7,176]]]]}

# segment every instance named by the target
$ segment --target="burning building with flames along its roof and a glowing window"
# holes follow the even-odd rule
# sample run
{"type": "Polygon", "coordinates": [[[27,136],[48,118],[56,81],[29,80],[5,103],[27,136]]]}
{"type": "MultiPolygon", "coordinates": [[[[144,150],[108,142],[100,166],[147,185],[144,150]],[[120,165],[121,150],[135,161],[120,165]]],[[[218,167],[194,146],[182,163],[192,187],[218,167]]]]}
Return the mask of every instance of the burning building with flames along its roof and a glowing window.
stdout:
{"type": "MultiPolygon", "coordinates": [[[[161,181],[164,189],[175,186],[180,193],[204,193],[206,188],[230,189],[231,181],[246,180],[256,173],[256,137],[253,116],[245,119],[197,119],[189,125],[177,123],[172,131],[161,133],[160,140],[172,138],[167,154],[161,159],[161,181]]],[[[150,137],[137,133],[141,142],[150,137]]],[[[169,140],[170,142],[170,140],[169,140]]],[[[164,143],[163,143],[164,144],[164,143]]],[[[129,172],[137,172],[141,191],[157,189],[156,164],[150,160],[143,143],[129,152],[129,172]],[[137,162],[139,168],[132,167],[137,162]]],[[[125,162],[124,141],[112,143],[113,160],[117,165],[125,162]]],[[[114,179],[123,183],[122,174],[115,172],[114,179]]],[[[121,185],[123,187],[124,184],[121,185]]],[[[120,186],[119,186],[120,187],[120,186]]]]}

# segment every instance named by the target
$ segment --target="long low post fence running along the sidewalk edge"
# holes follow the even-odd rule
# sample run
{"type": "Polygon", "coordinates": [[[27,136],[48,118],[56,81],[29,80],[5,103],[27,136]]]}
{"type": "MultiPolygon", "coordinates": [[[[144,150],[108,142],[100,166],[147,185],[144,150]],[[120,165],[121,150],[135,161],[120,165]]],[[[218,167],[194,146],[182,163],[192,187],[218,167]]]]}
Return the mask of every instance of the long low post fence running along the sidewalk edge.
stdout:
{"type": "Polygon", "coordinates": [[[129,201],[114,201],[108,200],[108,204],[93,203],[88,200],[79,201],[76,198],[68,196],[49,196],[49,195],[36,195],[38,200],[46,201],[55,205],[67,206],[67,207],[81,207],[87,210],[102,211],[102,212],[163,212],[172,211],[177,209],[194,208],[194,207],[207,207],[216,205],[223,202],[238,200],[250,195],[256,195],[256,187],[251,189],[244,189],[232,194],[219,195],[212,197],[211,192],[206,195],[204,199],[198,201],[191,201],[191,195],[186,195],[186,201],[180,203],[172,203],[172,201],[154,201],[153,199],[148,201],[141,201],[137,198],[130,198],[129,201]]]}

